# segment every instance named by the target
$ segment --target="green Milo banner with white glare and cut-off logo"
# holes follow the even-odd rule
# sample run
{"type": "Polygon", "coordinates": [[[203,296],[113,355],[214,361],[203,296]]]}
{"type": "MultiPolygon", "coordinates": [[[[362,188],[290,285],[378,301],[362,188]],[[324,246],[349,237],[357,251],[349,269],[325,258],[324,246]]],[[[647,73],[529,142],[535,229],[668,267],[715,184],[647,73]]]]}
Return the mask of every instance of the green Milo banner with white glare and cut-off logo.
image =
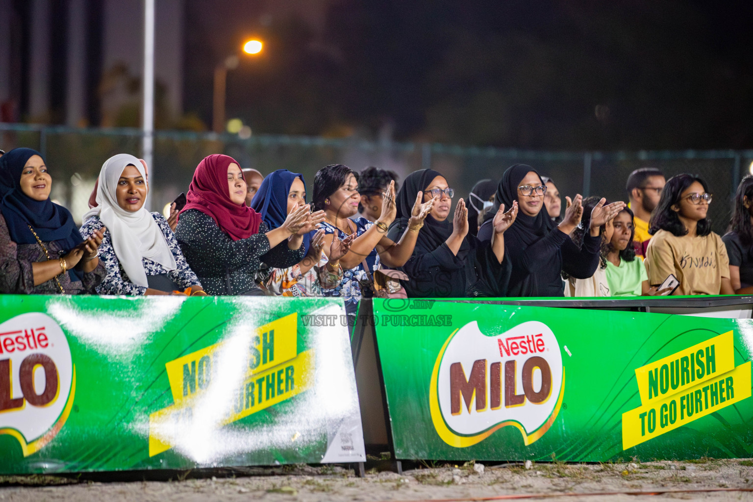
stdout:
{"type": "Polygon", "coordinates": [[[0,473],[364,461],[344,314],[0,295],[0,473]]]}

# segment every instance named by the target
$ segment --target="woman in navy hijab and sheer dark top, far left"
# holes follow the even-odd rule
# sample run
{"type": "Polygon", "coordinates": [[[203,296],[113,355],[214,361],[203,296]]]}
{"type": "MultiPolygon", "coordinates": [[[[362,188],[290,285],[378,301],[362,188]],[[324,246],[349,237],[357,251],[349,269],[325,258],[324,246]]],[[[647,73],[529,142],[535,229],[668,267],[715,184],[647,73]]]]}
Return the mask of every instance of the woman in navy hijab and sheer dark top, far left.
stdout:
{"type": "Polygon", "coordinates": [[[0,293],[81,294],[102,281],[102,233],[84,241],[68,209],[50,200],[41,154],[0,157],[0,293]]]}

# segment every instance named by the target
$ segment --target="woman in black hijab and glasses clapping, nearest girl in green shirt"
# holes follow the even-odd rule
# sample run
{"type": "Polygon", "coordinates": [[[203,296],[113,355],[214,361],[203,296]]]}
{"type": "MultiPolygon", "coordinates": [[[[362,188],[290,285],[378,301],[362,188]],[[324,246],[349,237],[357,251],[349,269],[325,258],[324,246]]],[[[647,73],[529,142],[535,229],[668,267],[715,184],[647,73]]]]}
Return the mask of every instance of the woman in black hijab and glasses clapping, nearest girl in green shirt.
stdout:
{"type": "MultiPolygon", "coordinates": [[[[569,207],[557,225],[544,207],[546,188],[538,172],[525,164],[508,168],[497,187],[495,208],[512,202],[520,205],[520,214],[505,239],[505,253],[513,266],[508,287],[511,297],[562,297],[562,270],[575,278],[591,277],[599,266],[599,227],[625,207],[624,202],[605,205],[606,199],[601,199],[591,211],[590,231],[578,248],[570,233],[581,223],[583,197],[577,195],[573,201],[566,197],[569,207]]],[[[489,217],[478,231],[479,239],[492,239],[492,228],[489,217]]]]}

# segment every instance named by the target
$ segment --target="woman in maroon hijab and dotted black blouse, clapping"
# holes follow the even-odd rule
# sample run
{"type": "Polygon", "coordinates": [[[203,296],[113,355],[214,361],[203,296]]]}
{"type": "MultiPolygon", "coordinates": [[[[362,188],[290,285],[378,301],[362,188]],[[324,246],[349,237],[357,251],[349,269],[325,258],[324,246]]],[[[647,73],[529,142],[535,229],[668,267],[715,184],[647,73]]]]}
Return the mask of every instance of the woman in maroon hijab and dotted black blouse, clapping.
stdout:
{"type": "Polygon", "coordinates": [[[238,163],[215,154],[199,163],[178,215],[175,237],[208,294],[263,294],[255,281],[261,262],[286,268],[303,260],[303,235],[324,215],[304,205],[270,230],[245,205],[246,185],[238,163]]]}

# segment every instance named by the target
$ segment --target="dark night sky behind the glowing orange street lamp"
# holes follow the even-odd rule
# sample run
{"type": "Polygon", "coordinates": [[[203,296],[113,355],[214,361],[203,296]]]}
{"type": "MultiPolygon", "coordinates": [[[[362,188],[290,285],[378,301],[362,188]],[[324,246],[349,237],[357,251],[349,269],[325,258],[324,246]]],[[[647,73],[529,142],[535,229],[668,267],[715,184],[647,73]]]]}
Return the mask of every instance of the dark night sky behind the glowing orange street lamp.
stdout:
{"type": "Polygon", "coordinates": [[[749,2],[306,0],[275,15],[209,3],[187,4],[184,86],[184,110],[205,123],[215,62],[256,35],[263,55],[227,87],[227,117],[255,133],[753,146],[749,2]]]}

